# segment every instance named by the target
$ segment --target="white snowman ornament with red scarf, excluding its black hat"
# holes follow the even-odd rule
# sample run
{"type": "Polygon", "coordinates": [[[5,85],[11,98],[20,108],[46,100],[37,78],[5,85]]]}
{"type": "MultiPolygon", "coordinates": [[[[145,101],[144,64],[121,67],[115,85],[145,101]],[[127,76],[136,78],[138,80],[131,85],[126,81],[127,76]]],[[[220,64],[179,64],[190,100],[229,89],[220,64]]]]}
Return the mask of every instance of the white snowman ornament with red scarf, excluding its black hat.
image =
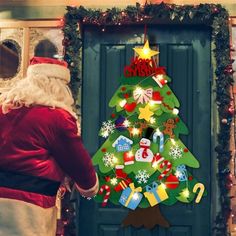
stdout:
{"type": "Polygon", "coordinates": [[[140,162],[152,162],[153,152],[150,150],[151,141],[146,138],[142,138],[139,142],[140,148],[135,153],[135,160],[140,162]]]}

